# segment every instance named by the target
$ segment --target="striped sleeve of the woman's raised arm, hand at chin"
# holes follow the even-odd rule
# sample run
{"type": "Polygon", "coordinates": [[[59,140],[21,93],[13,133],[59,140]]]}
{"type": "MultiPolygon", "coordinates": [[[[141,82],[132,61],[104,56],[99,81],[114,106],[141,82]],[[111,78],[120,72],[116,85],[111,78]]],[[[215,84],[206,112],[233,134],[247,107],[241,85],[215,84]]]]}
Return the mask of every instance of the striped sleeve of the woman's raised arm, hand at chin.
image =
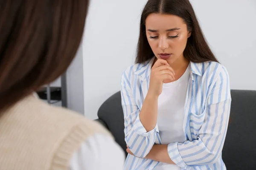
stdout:
{"type": "Polygon", "coordinates": [[[127,72],[131,72],[131,70],[126,71],[121,79],[121,98],[125,120],[125,142],[135,156],[144,158],[153,147],[156,133],[159,133],[159,130],[156,125],[153,130],[147,132],[141,123],[139,116],[140,109],[134,97],[136,93],[139,93],[139,90],[136,91],[135,89],[132,91],[130,83],[137,77],[132,76],[132,78],[128,79],[128,77],[131,76],[128,76],[127,72]]]}

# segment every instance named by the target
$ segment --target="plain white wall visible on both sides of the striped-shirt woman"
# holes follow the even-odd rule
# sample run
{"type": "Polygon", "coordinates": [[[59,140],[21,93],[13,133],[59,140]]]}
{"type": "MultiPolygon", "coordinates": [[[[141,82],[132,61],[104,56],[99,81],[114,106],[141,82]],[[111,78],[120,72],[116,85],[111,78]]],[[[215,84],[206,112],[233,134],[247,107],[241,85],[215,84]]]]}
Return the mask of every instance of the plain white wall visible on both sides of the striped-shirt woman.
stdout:
{"type": "MultiPolygon", "coordinates": [[[[134,62],[146,1],[90,1],[82,43],[84,114],[90,119],[119,91],[122,72],[134,62]]],[[[229,71],[231,88],[256,90],[256,0],[191,2],[213,52],[229,71]]]]}

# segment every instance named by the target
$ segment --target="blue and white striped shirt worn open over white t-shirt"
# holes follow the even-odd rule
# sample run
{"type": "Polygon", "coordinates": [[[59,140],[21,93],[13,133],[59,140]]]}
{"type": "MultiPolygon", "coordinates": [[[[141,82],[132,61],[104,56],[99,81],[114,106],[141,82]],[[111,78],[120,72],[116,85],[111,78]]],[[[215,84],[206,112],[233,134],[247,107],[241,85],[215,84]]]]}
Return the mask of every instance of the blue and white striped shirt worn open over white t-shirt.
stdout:
{"type": "MultiPolygon", "coordinates": [[[[153,170],[160,166],[160,162],[143,159],[154,144],[161,144],[158,125],[147,132],[139,117],[153,62],[154,58],[132,65],[122,75],[125,142],[135,155],[128,154],[125,170],[153,170]]],[[[227,70],[217,62],[190,65],[183,121],[186,141],[170,143],[169,156],[181,170],[226,170],[221,153],[231,105],[227,70]]]]}

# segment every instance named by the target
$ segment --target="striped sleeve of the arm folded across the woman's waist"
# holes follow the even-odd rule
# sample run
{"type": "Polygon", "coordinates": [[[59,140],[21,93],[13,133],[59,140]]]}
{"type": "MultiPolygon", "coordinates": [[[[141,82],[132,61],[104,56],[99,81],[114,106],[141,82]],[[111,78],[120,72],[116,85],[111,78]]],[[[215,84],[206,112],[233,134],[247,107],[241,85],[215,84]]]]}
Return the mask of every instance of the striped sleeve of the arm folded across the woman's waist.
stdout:
{"type": "Polygon", "coordinates": [[[188,165],[214,164],[224,145],[230,116],[230,85],[225,68],[222,69],[207,99],[204,123],[198,139],[168,145],[172,161],[186,169],[188,165]]]}

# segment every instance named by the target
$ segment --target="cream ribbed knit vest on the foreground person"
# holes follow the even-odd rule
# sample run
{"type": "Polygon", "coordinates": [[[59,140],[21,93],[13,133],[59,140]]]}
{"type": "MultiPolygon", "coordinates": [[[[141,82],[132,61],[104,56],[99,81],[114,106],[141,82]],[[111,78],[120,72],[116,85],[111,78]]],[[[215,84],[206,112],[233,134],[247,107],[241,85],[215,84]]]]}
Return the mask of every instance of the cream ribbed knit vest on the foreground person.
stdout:
{"type": "Polygon", "coordinates": [[[0,113],[0,170],[67,170],[82,142],[107,130],[28,96],[0,113]]]}

